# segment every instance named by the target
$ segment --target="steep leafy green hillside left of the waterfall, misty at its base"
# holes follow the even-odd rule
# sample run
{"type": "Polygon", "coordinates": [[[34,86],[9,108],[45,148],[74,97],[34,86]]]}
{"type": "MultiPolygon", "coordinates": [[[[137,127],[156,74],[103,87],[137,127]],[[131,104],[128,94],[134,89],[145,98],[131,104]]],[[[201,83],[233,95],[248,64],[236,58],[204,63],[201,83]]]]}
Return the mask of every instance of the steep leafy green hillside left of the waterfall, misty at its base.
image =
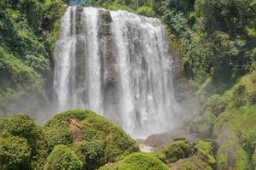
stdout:
{"type": "Polygon", "coordinates": [[[20,110],[39,115],[40,106],[49,105],[45,84],[52,74],[52,49],[59,31],[56,23],[65,3],[0,2],[0,110],[5,116],[20,110]]]}

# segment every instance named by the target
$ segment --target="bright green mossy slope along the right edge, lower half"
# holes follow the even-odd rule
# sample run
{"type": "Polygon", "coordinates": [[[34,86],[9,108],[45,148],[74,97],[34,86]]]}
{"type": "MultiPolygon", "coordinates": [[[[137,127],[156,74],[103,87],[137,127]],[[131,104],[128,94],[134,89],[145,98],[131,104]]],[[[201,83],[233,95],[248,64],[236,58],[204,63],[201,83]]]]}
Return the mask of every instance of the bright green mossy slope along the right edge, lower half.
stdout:
{"type": "Polygon", "coordinates": [[[212,137],[218,144],[218,169],[253,169],[255,147],[256,73],[242,77],[221,100],[225,110],[214,123],[212,137]]]}

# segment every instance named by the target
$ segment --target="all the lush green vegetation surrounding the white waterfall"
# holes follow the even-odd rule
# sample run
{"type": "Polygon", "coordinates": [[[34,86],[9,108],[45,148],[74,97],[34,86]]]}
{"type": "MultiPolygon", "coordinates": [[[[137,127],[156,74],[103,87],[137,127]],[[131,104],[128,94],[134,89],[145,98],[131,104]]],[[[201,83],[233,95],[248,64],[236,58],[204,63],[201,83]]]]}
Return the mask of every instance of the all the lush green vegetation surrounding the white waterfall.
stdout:
{"type": "Polygon", "coordinates": [[[55,42],[70,3],[0,0],[0,169],[256,168],[255,0],[82,3],[166,26],[177,95],[196,107],[178,128],[198,140],[174,138],[151,154],[138,152],[119,126],[90,111],[67,111],[44,126],[29,117],[45,120],[52,108],[55,42]]]}

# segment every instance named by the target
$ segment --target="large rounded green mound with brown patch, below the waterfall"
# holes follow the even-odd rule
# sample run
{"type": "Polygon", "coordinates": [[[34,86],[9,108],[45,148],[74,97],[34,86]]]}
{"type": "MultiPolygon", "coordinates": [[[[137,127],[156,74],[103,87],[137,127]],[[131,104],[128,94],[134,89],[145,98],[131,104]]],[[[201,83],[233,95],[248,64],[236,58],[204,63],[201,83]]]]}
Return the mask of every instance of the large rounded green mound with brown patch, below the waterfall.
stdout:
{"type": "Polygon", "coordinates": [[[119,161],[138,150],[121,127],[92,111],[66,111],[54,116],[44,126],[49,150],[57,144],[66,144],[77,153],[86,164],[86,169],[94,169],[108,162],[119,161]],[[79,141],[73,140],[74,132],[70,120],[81,132],[79,141]]]}

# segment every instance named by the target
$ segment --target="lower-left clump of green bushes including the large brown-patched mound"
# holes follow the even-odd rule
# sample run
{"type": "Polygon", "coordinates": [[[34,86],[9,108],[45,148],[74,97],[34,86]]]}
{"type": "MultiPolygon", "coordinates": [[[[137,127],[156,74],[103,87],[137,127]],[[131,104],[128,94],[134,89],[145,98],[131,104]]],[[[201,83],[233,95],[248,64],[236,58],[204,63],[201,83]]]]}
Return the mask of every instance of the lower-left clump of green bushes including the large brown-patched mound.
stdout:
{"type": "Polygon", "coordinates": [[[3,170],[91,170],[137,151],[136,142],[119,126],[91,111],[63,112],[44,126],[22,114],[0,120],[3,170]],[[76,131],[71,119],[77,123],[76,131]],[[77,133],[79,140],[73,139],[77,133]]]}

